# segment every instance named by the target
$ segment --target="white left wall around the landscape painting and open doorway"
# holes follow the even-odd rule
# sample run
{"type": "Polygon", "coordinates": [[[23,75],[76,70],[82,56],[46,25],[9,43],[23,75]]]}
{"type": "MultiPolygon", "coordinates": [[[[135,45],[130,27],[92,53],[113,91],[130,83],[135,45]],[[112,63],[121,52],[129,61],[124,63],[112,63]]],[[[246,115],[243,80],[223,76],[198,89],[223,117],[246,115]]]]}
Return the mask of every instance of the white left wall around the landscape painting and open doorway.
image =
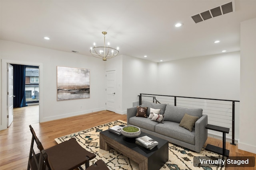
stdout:
{"type": "MultiPolygon", "coordinates": [[[[6,63],[39,65],[40,69],[40,122],[100,111],[105,109],[105,63],[95,57],[45,49],[11,41],[0,41],[1,67],[6,63]],[[57,101],[57,66],[90,69],[90,98],[57,101]],[[82,108],[81,108],[82,107],[82,108]]],[[[1,69],[2,113],[1,129],[6,118],[7,72],[1,69]],[[3,80],[3,81],[2,81],[3,80]]],[[[6,128],[6,127],[5,127],[6,128]]]]}

